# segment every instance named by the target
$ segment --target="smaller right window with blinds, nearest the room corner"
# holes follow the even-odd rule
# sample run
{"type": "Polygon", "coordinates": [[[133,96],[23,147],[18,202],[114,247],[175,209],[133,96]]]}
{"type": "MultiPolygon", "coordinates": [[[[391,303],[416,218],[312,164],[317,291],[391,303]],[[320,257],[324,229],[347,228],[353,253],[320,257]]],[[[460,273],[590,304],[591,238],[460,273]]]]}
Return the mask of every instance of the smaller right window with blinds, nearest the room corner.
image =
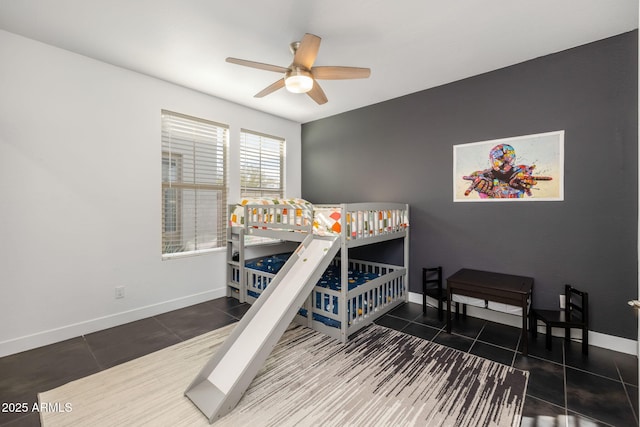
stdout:
{"type": "Polygon", "coordinates": [[[284,197],[284,139],[240,131],[241,197],[284,197]]]}

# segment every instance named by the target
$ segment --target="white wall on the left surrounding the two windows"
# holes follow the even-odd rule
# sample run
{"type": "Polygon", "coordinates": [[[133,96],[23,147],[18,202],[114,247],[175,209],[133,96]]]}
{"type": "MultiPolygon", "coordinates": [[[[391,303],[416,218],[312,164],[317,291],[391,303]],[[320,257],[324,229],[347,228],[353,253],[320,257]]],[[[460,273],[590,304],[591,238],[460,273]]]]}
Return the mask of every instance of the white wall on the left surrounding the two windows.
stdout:
{"type": "Polygon", "coordinates": [[[230,126],[231,201],[240,128],[300,195],[298,123],[4,31],[0,63],[0,356],[225,294],[225,251],[161,258],[161,109],[230,126]]]}

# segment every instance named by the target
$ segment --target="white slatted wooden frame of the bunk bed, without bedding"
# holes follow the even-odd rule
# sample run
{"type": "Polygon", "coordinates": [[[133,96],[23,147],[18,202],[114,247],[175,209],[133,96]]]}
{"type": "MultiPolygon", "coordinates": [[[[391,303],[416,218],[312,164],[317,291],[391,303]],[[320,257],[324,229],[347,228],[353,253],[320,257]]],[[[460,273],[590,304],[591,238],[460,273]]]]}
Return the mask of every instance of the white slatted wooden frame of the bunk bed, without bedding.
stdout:
{"type": "MultiPolygon", "coordinates": [[[[235,205],[232,209],[234,207],[235,205]]],[[[336,257],[334,263],[340,266],[341,286],[340,290],[315,286],[303,310],[296,316],[296,321],[346,342],[354,332],[408,301],[409,205],[343,203],[314,207],[340,209],[340,256],[336,257]],[[385,224],[380,219],[380,213],[386,215],[385,224]],[[345,224],[347,218],[350,219],[349,224],[345,224]],[[352,248],[395,239],[403,239],[404,259],[401,266],[349,259],[349,250],[352,248]],[[379,277],[349,290],[350,269],[376,273],[379,277]],[[337,313],[334,313],[334,303],[337,303],[337,313]],[[339,322],[340,327],[329,326],[314,318],[314,314],[339,322]]],[[[253,303],[256,298],[248,291],[260,293],[275,276],[245,267],[245,236],[302,242],[309,233],[313,233],[314,212],[303,209],[301,217],[295,217],[295,209],[286,204],[244,206],[244,224],[230,226],[228,229],[227,296],[238,298],[240,302],[253,303]],[[234,260],[236,249],[238,257],[234,260]],[[259,283],[261,289],[250,287],[249,283],[259,283]]]]}

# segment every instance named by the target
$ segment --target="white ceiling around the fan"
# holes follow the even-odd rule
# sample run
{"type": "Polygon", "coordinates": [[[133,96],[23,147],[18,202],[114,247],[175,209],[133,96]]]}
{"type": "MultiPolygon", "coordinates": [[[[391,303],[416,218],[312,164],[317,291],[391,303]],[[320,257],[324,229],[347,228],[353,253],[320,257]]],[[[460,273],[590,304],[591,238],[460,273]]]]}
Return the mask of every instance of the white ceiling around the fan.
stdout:
{"type": "Polygon", "coordinates": [[[0,0],[0,29],[300,123],[637,28],[637,0],[0,0]],[[371,77],[258,99],[281,76],[225,62],[287,67],[307,32],[371,77]]]}

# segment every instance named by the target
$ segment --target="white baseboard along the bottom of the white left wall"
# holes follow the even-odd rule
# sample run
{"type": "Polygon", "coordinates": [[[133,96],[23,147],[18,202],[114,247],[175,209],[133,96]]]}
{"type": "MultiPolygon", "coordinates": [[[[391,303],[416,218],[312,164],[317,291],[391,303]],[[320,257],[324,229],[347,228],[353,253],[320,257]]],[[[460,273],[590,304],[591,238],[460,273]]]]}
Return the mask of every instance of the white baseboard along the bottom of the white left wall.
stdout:
{"type": "Polygon", "coordinates": [[[136,320],[145,319],[147,317],[156,316],[158,314],[167,313],[190,305],[199,304],[215,298],[221,298],[226,295],[226,289],[216,289],[212,291],[202,292],[200,294],[189,295],[182,298],[176,298],[170,301],[164,301],[158,304],[152,304],[133,310],[115,313],[109,316],[89,319],[83,322],[62,326],[59,328],[49,329],[32,335],[25,335],[7,341],[0,342],[0,357],[8,356],[22,351],[31,350],[44,345],[57,343],[92,332],[101,331],[103,329],[112,328],[114,326],[123,325],[125,323],[134,322],[136,320]]]}

